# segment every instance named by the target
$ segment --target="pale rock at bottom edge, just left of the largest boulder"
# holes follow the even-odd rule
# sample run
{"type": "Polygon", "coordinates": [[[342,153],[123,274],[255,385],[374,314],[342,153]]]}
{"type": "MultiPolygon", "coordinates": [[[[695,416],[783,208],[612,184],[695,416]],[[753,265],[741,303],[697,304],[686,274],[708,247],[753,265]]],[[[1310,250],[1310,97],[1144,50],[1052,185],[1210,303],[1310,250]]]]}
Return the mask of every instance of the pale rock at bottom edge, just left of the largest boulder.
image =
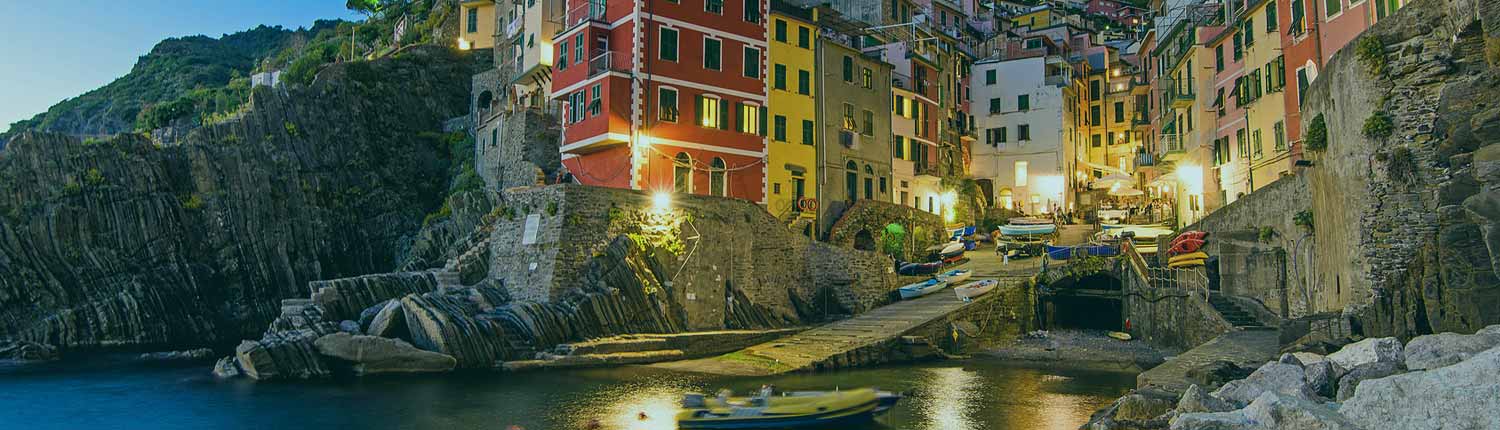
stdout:
{"type": "MultiPolygon", "coordinates": [[[[1245,409],[1233,412],[1182,414],[1172,430],[1359,430],[1328,406],[1275,391],[1262,393],[1245,409]]],[[[1371,427],[1376,429],[1376,427],[1371,427]]]]}

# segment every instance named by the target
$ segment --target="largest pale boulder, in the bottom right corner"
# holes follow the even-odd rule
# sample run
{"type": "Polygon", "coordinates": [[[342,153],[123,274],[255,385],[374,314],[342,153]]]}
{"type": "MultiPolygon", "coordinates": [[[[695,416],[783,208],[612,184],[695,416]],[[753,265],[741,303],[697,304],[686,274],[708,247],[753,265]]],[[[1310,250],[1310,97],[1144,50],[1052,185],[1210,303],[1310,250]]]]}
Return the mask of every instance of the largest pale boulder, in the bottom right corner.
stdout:
{"type": "Polygon", "coordinates": [[[1500,348],[1442,369],[1360,382],[1340,412],[1365,429],[1500,429],[1500,348]]]}

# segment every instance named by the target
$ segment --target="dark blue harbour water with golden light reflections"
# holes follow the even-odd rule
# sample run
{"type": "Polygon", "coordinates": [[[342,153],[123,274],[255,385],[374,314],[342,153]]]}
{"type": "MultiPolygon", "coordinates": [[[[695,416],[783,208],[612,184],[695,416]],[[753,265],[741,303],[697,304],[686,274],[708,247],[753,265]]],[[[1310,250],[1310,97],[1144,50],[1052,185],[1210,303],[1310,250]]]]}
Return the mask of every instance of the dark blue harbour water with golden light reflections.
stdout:
{"type": "Polygon", "coordinates": [[[1131,373],[993,361],[894,366],[770,379],[645,367],[454,373],[315,382],[216,381],[212,363],[98,360],[0,366],[0,429],[674,429],[681,393],[909,391],[866,429],[1077,429],[1134,387],[1131,373]],[[640,414],[645,412],[645,420],[640,414]]]}

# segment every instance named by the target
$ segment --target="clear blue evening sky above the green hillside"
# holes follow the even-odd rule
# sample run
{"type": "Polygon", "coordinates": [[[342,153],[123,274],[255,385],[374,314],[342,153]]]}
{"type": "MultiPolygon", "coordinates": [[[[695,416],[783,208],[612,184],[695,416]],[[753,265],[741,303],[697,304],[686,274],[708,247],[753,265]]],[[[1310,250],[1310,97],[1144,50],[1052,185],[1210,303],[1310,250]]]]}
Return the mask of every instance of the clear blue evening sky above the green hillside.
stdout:
{"type": "Polygon", "coordinates": [[[342,0],[0,0],[0,130],[123,76],[156,42],[358,18],[342,0]]]}

